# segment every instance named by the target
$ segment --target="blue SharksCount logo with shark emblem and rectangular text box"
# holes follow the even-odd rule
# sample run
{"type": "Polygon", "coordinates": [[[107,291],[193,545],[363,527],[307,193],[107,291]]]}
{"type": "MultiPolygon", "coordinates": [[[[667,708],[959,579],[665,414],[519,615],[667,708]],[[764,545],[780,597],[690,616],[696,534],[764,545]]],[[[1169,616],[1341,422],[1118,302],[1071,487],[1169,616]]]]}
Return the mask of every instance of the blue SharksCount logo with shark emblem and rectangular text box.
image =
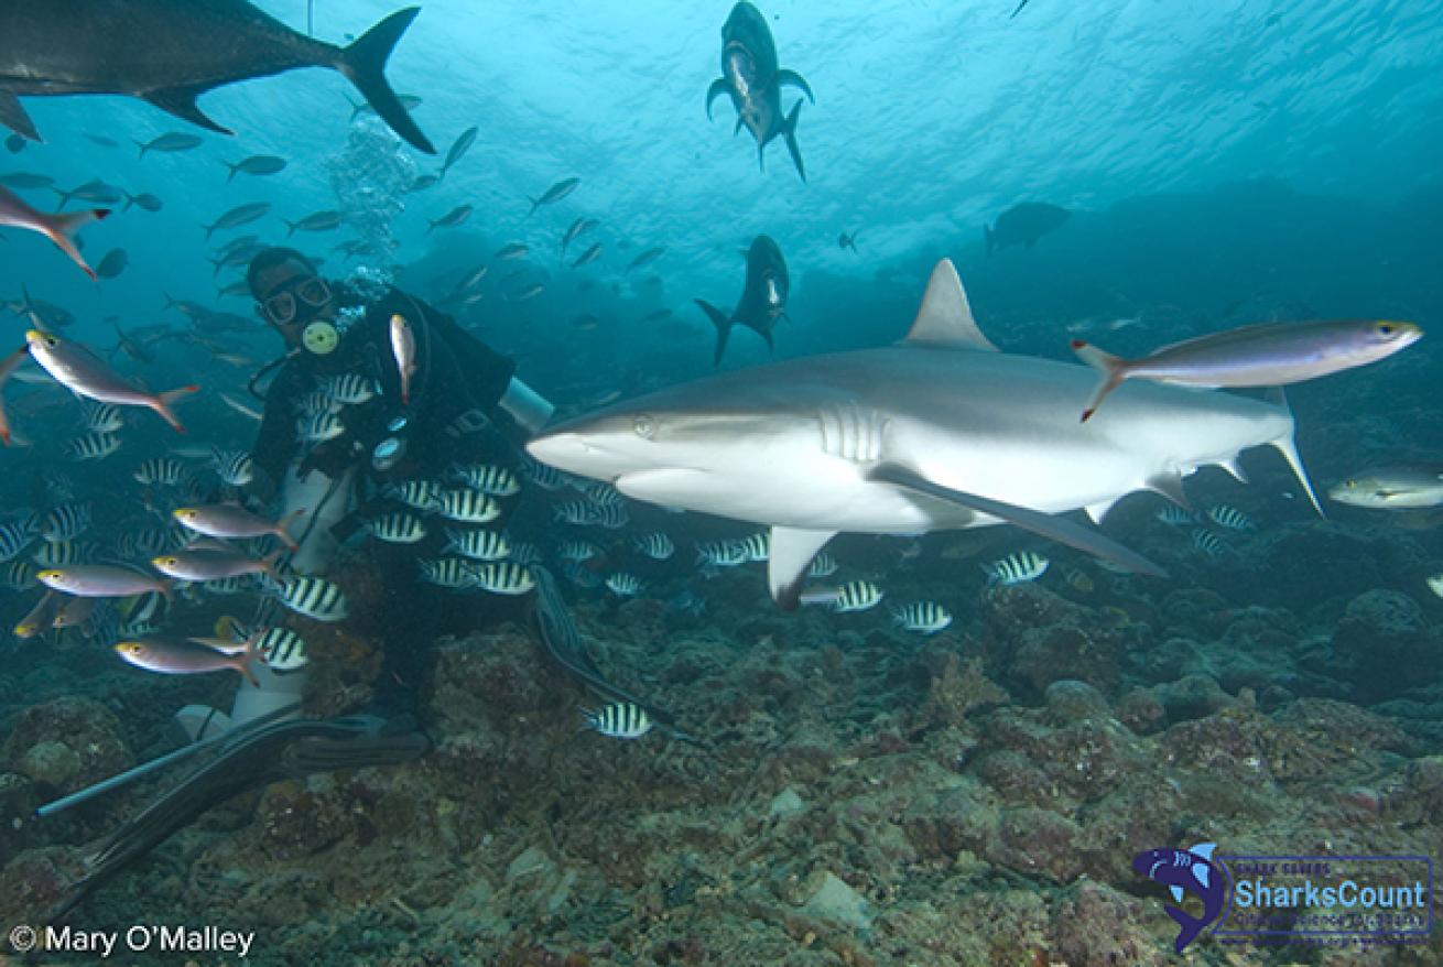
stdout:
{"type": "Polygon", "coordinates": [[[1179,954],[1205,931],[1232,945],[1354,948],[1426,944],[1433,932],[1427,856],[1224,856],[1215,849],[1199,843],[1133,857],[1139,876],[1172,893],[1163,911],[1179,927],[1179,954]],[[1201,916],[1183,909],[1189,893],[1201,916]]]}

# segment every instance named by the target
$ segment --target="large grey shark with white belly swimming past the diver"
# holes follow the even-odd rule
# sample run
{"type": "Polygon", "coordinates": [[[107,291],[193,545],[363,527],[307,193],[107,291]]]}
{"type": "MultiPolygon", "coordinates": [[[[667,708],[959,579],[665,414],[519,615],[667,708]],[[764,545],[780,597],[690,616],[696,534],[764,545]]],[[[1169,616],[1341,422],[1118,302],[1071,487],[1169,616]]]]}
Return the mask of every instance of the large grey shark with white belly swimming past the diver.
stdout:
{"type": "Polygon", "coordinates": [[[1163,577],[1061,515],[1098,521],[1136,491],[1183,504],[1183,476],[1255,446],[1276,447],[1313,496],[1284,406],[1128,382],[1078,426],[1091,388],[1087,367],[999,352],[942,260],[899,345],[684,382],[563,421],[527,450],[629,498],[769,525],[768,585],[785,608],[843,531],[1012,522],[1163,577]]]}

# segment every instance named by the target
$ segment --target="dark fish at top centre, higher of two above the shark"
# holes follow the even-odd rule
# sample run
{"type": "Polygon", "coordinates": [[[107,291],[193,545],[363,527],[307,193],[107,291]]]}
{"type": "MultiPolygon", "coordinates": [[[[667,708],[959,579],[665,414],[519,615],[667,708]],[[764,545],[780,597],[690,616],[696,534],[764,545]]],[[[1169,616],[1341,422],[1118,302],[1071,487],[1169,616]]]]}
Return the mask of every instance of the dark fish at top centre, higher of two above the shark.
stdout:
{"type": "Polygon", "coordinates": [[[781,136],[797,165],[797,173],[807,180],[802,152],[797,146],[797,118],[802,100],[797,98],[791,113],[782,117],[782,85],[799,88],[812,104],[811,87],[795,71],[784,69],[776,61],[776,42],[766,17],[746,0],[732,7],[732,16],[722,27],[722,76],[707,88],[707,120],[711,102],[723,94],[732,97],[736,108],[736,130],[743,126],[756,139],[756,163],[765,169],[766,144],[781,136]]]}

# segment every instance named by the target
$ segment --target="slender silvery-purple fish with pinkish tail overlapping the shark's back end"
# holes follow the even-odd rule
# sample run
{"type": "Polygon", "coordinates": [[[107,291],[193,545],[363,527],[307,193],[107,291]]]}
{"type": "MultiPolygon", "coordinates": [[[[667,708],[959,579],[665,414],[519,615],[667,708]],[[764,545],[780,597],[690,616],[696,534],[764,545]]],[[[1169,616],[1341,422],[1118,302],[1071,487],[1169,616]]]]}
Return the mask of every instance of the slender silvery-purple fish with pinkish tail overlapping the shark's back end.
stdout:
{"type": "Polygon", "coordinates": [[[1385,359],[1421,336],[1414,323],[1391,319],[1267,322],[1175,342],[1141,359],[1123,359],[1074,339],[1072,351],[1102,374],[1102,384],[1082,410],[1082,421],[1097,413],[1123,380],[1136,377],[1208,390],[1281,387],[1385,359]]]}

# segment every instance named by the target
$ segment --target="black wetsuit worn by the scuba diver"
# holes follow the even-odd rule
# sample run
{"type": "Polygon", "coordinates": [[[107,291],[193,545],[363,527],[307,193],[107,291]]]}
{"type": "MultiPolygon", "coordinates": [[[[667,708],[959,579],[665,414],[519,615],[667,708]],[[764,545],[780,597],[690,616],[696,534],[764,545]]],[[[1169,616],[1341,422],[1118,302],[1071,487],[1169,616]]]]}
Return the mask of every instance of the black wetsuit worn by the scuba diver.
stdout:
{"type": "MultiPolygon", "coordinates": [[[[391,289],[345,332],[335,352],[317,356],[302,351],[286,362],[267,393],[253,459],[273,484],[278,484],[296,460],[302,473],[313,469],[330,479],[355,469],[359,507],[338,527],[354,533],[362,518],[401,509],[398,502],[382,498],[387,481],[442,479],[459,462],[515,465],[521,436],[511,417],[496,407],[514,371],[511,359],[463,331],[450,316],[391,289]],[[391,354],[390,320],[397,313],[407,319],[416,339],[408,406],[401,404],[401,380],[391,354]],[[343,407],[339,417],[346,432],[307,452],[307,445],[296,439],[296,407],[302,397],[320,388],[320,378],[343,374],[374,378],[380,391],[367,403],[343,407]],[[478,414],[485,417],[479,420],[485,424],[481,429],[478,414]],[[407,421],[400,434],[388,429],[398,416],[407,421]],[[463,424],[462,432],[457,432],[457,421],[463,424]],[[377,443],[392,436],[405,440],[404,456],[390,471],[377,472],[371,453],[377,443]]],[[[332,499],[346,496],[339,494],[332,499]]],[[[418,559],[440,554],[444,544],[440,524],[436,518],[427,520],[427,537],[417,544],[368,541],[371,561],[385,589],[385,600],[378,609],[385,658],[372,700],[372,710],[381,716],[417,713],[431,644],[444,615],[457,608],[455,592],[420,580],[417,567],[418,559]]],[[[499,530],[502,521],[489,527],[499,530]]]]}

